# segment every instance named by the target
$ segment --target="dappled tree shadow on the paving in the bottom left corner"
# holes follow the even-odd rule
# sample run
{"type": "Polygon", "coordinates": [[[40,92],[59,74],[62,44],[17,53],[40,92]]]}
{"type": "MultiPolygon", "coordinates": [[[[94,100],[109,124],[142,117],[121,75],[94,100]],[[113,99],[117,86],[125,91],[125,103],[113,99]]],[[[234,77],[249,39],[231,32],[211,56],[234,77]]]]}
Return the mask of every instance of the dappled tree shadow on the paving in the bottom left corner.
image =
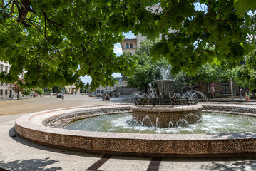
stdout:
{"type": "Polygon", "coordinates": [[[50,158],[44,159],[29,159],[29,160],[15,160],[11,162],[0,161],[0,170],[4,168],[5,170],[43,170],[43,171],[54,171],[62,170],[61,167],[51,167],[45,168],[48,165],[58,162],[57,160],[51,160],[50,158]]]}

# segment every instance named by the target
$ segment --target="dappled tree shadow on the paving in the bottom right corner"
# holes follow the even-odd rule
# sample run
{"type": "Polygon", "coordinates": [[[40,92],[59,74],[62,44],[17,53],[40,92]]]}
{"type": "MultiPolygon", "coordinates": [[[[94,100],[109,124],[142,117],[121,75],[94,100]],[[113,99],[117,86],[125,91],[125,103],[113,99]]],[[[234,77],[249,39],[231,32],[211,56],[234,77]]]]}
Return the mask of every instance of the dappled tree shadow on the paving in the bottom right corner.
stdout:
{"type": "Polygon", "coordinates": [[[212,162],[208,165],[202,165],[202,170],[228,170],[228,171],[247,171],[256,170],[255,160],[246,161],[226,161],[226,162],[212,162]]]}

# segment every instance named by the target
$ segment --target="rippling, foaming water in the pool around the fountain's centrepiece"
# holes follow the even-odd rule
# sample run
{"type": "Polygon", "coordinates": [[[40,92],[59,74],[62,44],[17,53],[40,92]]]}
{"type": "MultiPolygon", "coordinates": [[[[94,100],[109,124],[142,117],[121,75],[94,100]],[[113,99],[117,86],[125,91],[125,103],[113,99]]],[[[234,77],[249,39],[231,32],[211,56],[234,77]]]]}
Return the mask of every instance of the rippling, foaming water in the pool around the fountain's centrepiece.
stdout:
{"type": "Polygon", "coordinates": [[[196,134],[243,133],[256,131],[256,118],[225,113],[203,113],[202,122],[185,127],[158,128],[134,125],[131,113],[100,115],[70,123],[69,130],[86,130],[113,133],[196,134]]]}

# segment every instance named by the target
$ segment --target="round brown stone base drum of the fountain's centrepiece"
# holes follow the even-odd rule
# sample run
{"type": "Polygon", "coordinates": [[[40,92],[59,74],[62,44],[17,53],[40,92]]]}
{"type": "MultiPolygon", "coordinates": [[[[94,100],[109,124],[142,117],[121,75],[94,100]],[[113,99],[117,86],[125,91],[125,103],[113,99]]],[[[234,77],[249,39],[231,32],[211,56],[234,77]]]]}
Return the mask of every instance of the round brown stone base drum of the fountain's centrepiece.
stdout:
{"type": "Polygon", "coordinates": [[[199,123],[202,119],[202,105],[133,105],[133,120],[143,123],[143,125],[167,128],[170,125],[180,125],[180,121],[185,118],[186,123],[199,123]],[[148,120],[145,120],[148,117],[148,120]]]}

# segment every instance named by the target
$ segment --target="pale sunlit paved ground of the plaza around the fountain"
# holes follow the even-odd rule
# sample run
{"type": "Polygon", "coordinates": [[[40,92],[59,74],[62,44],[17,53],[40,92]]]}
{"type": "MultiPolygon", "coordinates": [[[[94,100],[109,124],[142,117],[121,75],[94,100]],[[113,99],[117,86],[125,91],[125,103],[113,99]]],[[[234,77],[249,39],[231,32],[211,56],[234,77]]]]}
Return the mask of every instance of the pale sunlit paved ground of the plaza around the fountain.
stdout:
{"type": "MultiPolygon", "coordinates": [[[[42,108],[53,109],[55,105],[53,101],[57,103],[56,108],[63,108],[63,105],[67,104],[60,99],[58,101],[50,97],[45,99],[27,102],[21,100],[23,102],[12,104],[0,102],[0,113],[4,114],[0,116],[0,170],[256,170],[255,158],[181,160],[158,157],[103,156],[53,149],[29,142],[19,136],[13,137],[13,135],[16,135],[14,120],[20,115],[24,115],[24,113],[18,113],[19,110],[24,109],[21,111],[26,111],[26,108],[29,108],[29,111],[34,109],[33,112],[36,112],[42,108]],[[41,108],[39,108],[40,106],[41,108]],[[10,110],[16,114],[10,115],[10,110]]],[[[65,100],[70,102],[67,107],[71,107],[71,104],[76,104],[75,106],[82,105],[82,103],[96,105],[120,103],[120,100],[122,100],[122,103],[124,102],[123,99],[117,98],[110,102],[103,102],[98,98],[83,99],[81,96],[70,96],[65,100]]]]}

